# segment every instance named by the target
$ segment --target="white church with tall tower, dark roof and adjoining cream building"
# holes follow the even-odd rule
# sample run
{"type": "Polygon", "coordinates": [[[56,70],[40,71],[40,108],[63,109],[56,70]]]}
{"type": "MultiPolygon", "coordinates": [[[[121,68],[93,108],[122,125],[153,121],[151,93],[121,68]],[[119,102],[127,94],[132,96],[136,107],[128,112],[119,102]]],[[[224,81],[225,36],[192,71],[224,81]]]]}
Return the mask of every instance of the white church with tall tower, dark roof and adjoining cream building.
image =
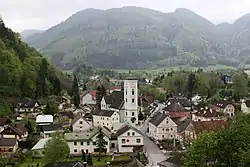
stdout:
{"type": "Polygon", "coordinates": [[[113,91],[102,98],[101,109],[93,113],[94,126],[106,126],[110,130],[124,123],[138,126],[138,81],[126,79],[122,87],[121,91],[113,91]]]}

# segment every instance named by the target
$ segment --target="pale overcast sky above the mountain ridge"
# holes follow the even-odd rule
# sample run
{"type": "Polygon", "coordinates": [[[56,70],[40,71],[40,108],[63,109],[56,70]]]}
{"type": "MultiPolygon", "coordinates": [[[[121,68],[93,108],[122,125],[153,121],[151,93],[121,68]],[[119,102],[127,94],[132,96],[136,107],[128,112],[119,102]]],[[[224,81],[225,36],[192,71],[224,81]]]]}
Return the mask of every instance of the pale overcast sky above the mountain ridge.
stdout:
{"type": "Polygon", "coordinates": [[[0,0],[0,14],[15,31],[48,29],[86,8],[141,6],[162,12],[187,8],[213,23],[230,22],[250,13],[250,0],[0,0]]]}

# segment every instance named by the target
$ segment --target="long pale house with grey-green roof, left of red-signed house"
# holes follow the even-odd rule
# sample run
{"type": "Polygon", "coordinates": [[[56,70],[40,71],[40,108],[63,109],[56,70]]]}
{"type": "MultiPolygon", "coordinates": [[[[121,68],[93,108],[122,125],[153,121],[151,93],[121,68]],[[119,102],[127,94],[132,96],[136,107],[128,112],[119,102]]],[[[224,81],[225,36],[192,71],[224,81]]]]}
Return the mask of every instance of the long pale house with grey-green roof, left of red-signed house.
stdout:
{"type": "Polygon", "coordinates": [[[82,154],[82,151],[87,154],[98,152],[96,141],[100,131],[104,135],[105,151],[110,152],[111,133],[104,128],[93,128],[84,132],[65,133],[65,140],[68,143],[70,155],[79,156],[82,154]]]}

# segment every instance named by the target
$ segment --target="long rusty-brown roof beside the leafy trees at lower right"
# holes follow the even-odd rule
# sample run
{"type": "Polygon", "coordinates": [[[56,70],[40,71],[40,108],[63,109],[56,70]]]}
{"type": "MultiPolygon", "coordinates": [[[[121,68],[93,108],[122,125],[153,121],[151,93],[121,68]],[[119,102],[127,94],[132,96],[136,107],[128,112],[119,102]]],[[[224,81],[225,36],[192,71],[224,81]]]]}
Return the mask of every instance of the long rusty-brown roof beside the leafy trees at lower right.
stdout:
{"type": "Polygon", "coordinates": [[[192,122],[194,126],[195,138],[202,132],[216,132],[228,127],[227,120],[215,120],[215,121],[197,121],[192,122]]]}

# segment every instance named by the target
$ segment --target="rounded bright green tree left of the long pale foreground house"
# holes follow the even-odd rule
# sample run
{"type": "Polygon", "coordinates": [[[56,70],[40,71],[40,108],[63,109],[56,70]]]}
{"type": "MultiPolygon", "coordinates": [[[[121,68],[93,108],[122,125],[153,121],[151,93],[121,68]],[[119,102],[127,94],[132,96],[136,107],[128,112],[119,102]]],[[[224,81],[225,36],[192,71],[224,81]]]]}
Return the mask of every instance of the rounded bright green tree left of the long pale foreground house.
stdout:
{"type": "Polygon", "coordinates": [[[63,134],[56,133],[45,145],[44,162],[56,163],[64,161],[69,155],[69,146],[63,134]]]}

